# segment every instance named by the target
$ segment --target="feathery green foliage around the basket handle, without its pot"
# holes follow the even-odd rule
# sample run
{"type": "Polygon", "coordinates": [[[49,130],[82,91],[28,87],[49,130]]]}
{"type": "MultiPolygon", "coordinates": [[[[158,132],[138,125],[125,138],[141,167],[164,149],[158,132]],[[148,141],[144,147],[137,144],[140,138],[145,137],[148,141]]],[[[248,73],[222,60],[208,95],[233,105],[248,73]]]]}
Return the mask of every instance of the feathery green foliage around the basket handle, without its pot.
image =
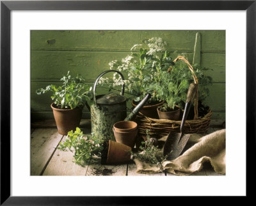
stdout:
{"type": "MultiPolygon", "coordinates": [[[[206,68],[193,66],[196,77],[198,78],[198,98],[204,101],[209,96],[208,85],[212,84],[212,78],[204,74],[206,68]]],[[[182,108],[182,103],[186,101],[189,84],[194,82],[191,71],[184,61],[177,61],[175,65],[171,65],[169,71],[159,70],[159,82],[151,85],[153,91],[156,91],[158,99],[166,101],[166,107],[174,109],[175,105],[182,108]]],[[[167,110],[166,107],[163,107],[167,110]]]]}

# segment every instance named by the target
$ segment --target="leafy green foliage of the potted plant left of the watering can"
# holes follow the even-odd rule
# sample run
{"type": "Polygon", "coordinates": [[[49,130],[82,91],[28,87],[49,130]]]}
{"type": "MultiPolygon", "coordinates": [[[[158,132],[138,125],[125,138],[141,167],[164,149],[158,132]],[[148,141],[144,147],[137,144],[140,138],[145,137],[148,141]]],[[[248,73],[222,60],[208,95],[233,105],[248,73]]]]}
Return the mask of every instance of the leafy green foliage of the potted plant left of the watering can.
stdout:
{"type": "Polygon", "coordinates": [[[54,100],[54,104],[57,108],[77,108],[84,107],[86,101],[90,101],[90,90],[85,79],[81,75],[77,75],[76,78],[72,78],[68,71],[67,75],[60,80],[63,84],[60,87],[56,85],[48,85],[45,89],[40,88],[36,90],[36,94],[45,94],[45,92],[51,91],[51,99],[54,100]]]}

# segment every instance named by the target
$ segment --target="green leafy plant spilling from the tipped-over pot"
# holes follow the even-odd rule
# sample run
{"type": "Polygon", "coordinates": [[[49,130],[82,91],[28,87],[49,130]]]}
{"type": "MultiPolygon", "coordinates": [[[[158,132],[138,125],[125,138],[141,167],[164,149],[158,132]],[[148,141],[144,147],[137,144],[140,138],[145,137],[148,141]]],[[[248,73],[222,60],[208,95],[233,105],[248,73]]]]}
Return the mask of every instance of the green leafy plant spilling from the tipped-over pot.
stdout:
{"type": "Polygon", "coordinates": [[[88,164],[93,155],[101,156],[103,150],[103,142],[97,136],[84,136],[81,129],[76,128],[76,131],[68,131],[68,136],[65,142],[60,143],[61,151],[75,151],[74,158],[77,165],[88,164]]]}

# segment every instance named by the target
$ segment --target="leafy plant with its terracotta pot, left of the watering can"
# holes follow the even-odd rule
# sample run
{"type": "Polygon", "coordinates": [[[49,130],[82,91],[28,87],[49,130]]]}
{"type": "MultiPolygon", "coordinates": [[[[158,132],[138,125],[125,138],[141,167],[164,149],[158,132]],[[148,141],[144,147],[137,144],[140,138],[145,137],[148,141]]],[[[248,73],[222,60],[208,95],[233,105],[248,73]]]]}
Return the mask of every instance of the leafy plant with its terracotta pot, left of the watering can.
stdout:
{"type": "Polygon", "coordinates": [[[48,85],[45,89],[37,89],[36,94],[52,92],[51,99],[54,102],[51,108],[58,128],[58,133],[67,135],[68,131],[79,126],[83,107],[89,101],[91,88],[84,84],[85,80],[81,75],[72,78],[68,71],[67,75],[61,78],[61,86],[48,85]]]}

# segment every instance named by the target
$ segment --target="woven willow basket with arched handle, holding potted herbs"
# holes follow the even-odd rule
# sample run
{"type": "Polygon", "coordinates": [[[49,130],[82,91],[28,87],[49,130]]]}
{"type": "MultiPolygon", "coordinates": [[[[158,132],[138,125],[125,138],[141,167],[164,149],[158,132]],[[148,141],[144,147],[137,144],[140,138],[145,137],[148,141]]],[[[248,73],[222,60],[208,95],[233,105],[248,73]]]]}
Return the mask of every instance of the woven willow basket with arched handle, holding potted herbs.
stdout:
{"type": "MultiPolygon", "coordinates": [[[[198,79],[194,73],[193,67],[189,63],[187,59],[182,56],[177,57],[174,59],[174,63],[178,60],[184,61],[188,64],[188,68],[191,71],[195,84],[198,84],[198,79]]],[[[184,124],[184,133],[204,133],[209,128],[209,124],[211,122],[211,115],[212,111],[209,108],[208,113],[204,115],[204,117],[198,117],[198,89],[195,95],[195,116],[193,120],[187,120],[184,124]]],[[[154,138],[161,138],[163,136],[168,135],[170,131],[173,132],[180,132],[180,124],[181,121],[172,121],[167,119],[152,119],[147,117],[139,112],[134,119],[138,123],[138,134],[140,136],[145,137],[148,134],[154,138]]]]}

